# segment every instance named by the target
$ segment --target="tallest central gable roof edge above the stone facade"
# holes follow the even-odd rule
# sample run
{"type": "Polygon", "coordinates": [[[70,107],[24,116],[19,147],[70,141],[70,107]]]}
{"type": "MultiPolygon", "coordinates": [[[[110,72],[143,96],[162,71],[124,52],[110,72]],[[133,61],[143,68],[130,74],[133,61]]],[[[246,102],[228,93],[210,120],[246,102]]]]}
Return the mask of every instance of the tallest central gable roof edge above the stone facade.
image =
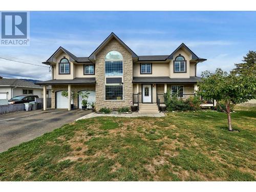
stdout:
{"type": "Polygon", "coordinates": [[[106,39],[99,45],[99,47],[97,47],[97,49],[95,49],[95,51],[89,56],[89,60],[94,60],[95,58],[95,54],[100,51],[112,38],[115,38],[118,42],[120,42],[120,44],[125,47],[125,49],[127,49],[127,51],[129,51],[132,54],[133,58],[138,58],[138,55],[136,55],[136,53],[133,52],[133,50],[131,50],[128,46],[126,46],[126,44],[118,37],[116,36],[115,33],[111,33],[108,37],[106,37],[106,39]]]}

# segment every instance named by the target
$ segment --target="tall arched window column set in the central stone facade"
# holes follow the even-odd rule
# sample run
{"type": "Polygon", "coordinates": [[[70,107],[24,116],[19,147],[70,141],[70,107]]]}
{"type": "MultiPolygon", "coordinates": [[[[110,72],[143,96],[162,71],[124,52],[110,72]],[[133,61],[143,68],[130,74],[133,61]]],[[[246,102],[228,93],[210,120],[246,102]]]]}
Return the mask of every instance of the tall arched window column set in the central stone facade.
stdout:
{"type": "Polygon", "coordinates": [[[105,100],[123,100],[123,57],[111,51],[105,57],[105,100]]]}

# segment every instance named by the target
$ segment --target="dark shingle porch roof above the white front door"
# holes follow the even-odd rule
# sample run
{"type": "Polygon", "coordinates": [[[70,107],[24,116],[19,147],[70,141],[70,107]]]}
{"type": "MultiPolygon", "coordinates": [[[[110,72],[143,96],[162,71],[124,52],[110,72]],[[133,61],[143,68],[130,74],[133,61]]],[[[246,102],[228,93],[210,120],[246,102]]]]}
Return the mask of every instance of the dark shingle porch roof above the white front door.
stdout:
{"type": "Polygon", "coordinates": [[[133,83],[195,83],[201,77],[169,78],[169,77],[133,77],[133,83]]]}

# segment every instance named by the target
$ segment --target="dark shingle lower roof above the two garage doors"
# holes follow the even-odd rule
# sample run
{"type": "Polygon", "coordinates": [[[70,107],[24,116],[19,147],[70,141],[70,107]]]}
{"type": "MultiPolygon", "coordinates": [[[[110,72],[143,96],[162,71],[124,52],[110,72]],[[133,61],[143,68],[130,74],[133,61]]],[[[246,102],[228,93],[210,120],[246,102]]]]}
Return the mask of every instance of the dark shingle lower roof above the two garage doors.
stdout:
{"type": "Polygon", "coordinates": [[[36,84],[95,84],[95,77],[74,78],[74,79],[52,79],[48,81],[40,81],[36,84]]]}

